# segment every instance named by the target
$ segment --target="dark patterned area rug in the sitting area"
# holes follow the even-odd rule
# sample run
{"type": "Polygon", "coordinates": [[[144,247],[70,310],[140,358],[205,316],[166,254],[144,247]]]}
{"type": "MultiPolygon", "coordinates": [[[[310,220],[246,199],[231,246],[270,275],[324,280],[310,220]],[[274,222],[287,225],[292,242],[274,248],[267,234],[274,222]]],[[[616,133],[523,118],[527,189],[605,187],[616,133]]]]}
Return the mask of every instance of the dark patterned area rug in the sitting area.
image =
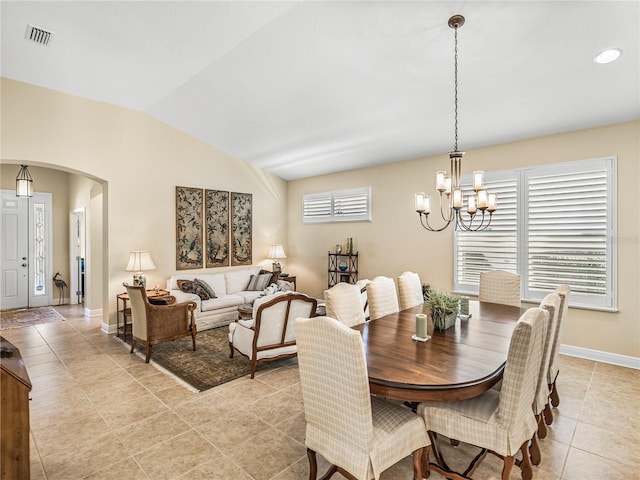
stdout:
{"type": "MultiPolygon", "coordinates": [[[[247,357],[235,352],[233,358],[229,358],[228,334],[227,326],[198,332],[195,352],[191,337],[154,345],[151,363],[198,391],[208,390],[251,373],[251,363],[247,357]]],[[[127,343],[131,345],[130,336],[127,336],[127,343]]],[[[138,345],[136,350],[144,355],[144,345],[138,345]]],[[[264,365],[258,364],[258,370],[264,365]]]]}

